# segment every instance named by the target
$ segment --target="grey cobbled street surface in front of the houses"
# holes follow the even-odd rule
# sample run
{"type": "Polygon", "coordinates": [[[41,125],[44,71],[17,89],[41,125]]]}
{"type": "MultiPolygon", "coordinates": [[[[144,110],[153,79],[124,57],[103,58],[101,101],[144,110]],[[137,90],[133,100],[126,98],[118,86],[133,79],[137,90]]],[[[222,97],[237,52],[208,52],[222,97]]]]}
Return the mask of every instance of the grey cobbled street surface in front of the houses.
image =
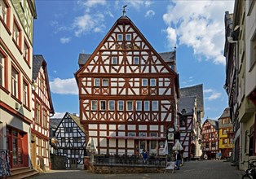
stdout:
{"type": "Polygon", "coordinates": [[[88,179],[155,179],[155,178],[182,178],[182,179],[198,179],[198,178],[227,178],[241,179],[244,172],[237,170],[230,162],[223,160],[204,160],[204,161],[189,161],[185,162],[180,170],[175,170],[174,173],[164,171],[162,173],[127,173],[127,174],[95,174],[86,170],[51,170],[49,172],[40,173],[33,179],[65,179],[65,178],[88,178],[88,179]]]}

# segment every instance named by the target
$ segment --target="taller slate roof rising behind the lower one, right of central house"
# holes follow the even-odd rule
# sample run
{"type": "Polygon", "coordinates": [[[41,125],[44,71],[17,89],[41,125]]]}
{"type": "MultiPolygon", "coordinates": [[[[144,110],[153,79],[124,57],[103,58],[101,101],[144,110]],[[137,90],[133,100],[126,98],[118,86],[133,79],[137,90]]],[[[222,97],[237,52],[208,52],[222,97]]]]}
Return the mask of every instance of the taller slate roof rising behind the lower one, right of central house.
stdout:
{"type": "Polygon", "coordinates": [[[180,98],[183,97],[196,97],[197,111],[204,112],[204,94],[203,85],[193,85],[179,89],[180,98]]]}

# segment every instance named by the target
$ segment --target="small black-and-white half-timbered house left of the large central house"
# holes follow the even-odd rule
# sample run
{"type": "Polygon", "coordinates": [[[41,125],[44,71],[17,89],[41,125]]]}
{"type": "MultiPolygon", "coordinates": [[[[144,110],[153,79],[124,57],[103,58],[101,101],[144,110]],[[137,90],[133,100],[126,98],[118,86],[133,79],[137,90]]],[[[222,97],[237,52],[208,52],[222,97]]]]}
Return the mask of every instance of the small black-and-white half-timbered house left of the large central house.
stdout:
{"type": "Polygon", "coordinates": [[[77,115],[66,113],[55,129],[55,155],[66,156],[66,168],[82,168],[86,131],[77,115]]]}

